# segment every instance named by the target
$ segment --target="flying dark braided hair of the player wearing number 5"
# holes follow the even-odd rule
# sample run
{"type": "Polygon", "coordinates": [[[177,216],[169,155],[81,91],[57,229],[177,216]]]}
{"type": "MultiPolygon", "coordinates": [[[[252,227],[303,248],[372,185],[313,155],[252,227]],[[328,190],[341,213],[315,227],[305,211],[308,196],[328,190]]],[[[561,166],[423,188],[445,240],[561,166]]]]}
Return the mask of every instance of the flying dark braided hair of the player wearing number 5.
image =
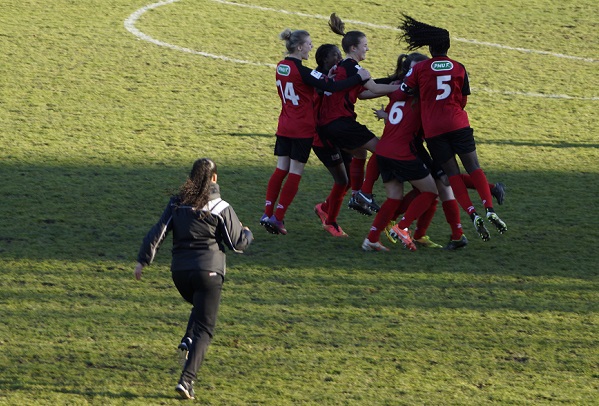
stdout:
{"type": "Polygon", "coordinates": [[[399,40],[408,44],[409,51],[428,46],[433,56],[447,53],[450,46],[449,31],[422,23],[408,15],[402,15],[403,20],[397,27],[403,31],[399,35],[399,40]]]}

